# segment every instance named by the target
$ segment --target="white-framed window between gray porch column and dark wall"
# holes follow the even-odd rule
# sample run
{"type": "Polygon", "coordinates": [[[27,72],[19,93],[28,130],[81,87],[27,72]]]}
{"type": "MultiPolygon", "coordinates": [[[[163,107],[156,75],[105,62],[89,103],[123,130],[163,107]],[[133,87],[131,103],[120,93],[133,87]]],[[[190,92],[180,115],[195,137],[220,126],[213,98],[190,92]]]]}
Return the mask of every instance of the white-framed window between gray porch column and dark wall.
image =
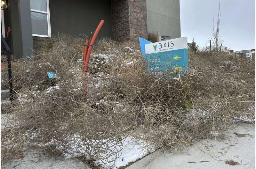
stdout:
{"type": "Polygon", "coordinates": [[[51,37],[49,0],[30,0],[32,35],[51,37]]]}

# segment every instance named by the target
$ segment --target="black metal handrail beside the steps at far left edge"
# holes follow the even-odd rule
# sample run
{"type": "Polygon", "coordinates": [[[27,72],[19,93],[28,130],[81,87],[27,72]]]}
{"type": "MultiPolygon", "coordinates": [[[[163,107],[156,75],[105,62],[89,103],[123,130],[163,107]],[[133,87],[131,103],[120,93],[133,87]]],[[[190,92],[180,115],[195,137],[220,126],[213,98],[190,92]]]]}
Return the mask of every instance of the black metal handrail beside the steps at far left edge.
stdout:
{"type": "Polygon", "coordinates": [[[8,83],[9,83],[9,90],[10,90],[10,101],[12,101],[13,89],[12,89],[11,50],[2,34],[1,34],[1,42],[3,42],[5,50],[7,51],[6,53],[7,53],[8,77],[9,77],[8,83]]]}

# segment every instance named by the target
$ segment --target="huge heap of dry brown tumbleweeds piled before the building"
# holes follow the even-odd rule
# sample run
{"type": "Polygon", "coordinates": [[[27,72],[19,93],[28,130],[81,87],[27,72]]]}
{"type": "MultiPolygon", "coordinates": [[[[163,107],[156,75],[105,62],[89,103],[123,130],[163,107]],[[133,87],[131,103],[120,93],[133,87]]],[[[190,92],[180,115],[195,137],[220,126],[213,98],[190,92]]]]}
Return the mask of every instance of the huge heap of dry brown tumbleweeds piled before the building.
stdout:
{"type": "Polygon", "coordinates": [[[83,156],[111,168],[129,136],[144,140],[145,148],[176,149],[202,135],[217,136],[234,119],[255,118],[254,61],[191,52],[186,76],[172,78],[177,70],[170,70],[161,78],[145,73],[138,44],[104,39],[93,48],[84,88],[83,40],[72,38],[50,39],[51,48],[42,43],[33,62],[13,62],[12,111],[22,127],[1,132],[5,157],[14,152],[6,139],[20,136],[49,154],[83,156]],[[221,69],[226,60],[237,69],[221,69]],[[51,87],[46,71],[58,71],[59,87],[51,87]]]}

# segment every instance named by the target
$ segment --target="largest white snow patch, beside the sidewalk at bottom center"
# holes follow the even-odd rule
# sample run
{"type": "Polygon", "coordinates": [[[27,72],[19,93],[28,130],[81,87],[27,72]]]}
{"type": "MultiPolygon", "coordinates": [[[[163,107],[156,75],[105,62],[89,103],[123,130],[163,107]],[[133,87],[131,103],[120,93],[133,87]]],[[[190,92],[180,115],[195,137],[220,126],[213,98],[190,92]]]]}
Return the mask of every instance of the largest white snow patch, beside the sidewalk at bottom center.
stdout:
{"type": "MultiPolygon", "coordinates": [[[[95,145],[97,145],[98,148],[102,149],[102,152],[106,152],[101,153],[100,158],[108,157],[106,161],[95,161],[96,164],[103,166],[103,168],[119,168],[121,166],[126,166],[128,163],[134,162],[138,158],[142,158],[148,153],[155,151],[153,146],[132,136],[124,138],[121,143],[116,143],[114,140],[112,142],[108,142],[108,140],[88,141],[88,143],[93,144],[91,147],[86,147],[85,145],[88,146],[88,143],[83,143],[83,141],[79,139],[79,136],[74,136],[73,138],[74,139],[71,139],[72,143],[70,145],[72,146],[70,147],[69,153],[63,155],[67,158],[82,156],[86,153],[86,149],[89,148],[91,152],[93,152],[95,145]],[[107,145],[102,144],[104,142],[107,143],[107,145]],[[108,149],[105,150],[106,148],[108,149]]],[[[99,150],[97,150],[97,152],[99,152],[99,150]]]]}

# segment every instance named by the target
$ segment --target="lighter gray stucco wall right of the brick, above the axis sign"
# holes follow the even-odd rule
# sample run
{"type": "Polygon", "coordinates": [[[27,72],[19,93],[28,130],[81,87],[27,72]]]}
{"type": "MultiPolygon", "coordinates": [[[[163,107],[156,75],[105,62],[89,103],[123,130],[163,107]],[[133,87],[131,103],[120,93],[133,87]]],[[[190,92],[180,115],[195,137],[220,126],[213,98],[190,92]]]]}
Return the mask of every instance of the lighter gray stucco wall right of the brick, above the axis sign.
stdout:
{"type": "Polygon", "coordinates": [[[180,37],[180,1],[147,0],[148,32],[158,36],[180,37]]]}

